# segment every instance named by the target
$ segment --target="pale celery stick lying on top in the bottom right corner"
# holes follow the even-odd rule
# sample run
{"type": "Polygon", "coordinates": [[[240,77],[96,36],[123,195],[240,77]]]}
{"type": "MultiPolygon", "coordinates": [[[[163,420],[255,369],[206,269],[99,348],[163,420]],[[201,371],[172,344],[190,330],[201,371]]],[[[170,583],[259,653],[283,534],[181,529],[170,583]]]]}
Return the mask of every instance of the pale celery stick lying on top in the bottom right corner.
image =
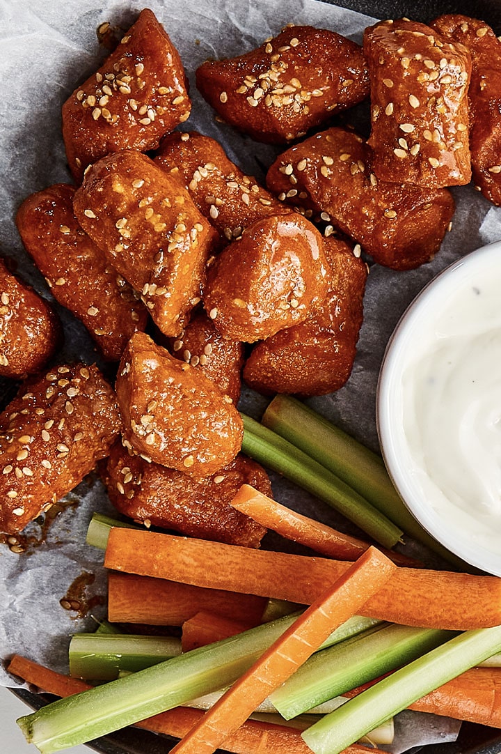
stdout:
{"type": "Polygon", "coordinates": [[[350,699],[302,737],[315,754],[339,754],[380,722],[500,650],[501,626],[461,633],[350,699]]]}

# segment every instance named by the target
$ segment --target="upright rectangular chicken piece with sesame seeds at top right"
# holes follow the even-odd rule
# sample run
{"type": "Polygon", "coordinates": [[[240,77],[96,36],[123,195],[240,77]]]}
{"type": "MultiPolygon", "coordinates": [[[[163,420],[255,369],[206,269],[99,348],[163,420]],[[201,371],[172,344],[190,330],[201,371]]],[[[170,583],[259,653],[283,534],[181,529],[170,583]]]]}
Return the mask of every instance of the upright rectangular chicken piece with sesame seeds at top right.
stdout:
{"type": "Polygon", "coordinates": [[[466,47],[402,19],[365,29],[364,52],[377,178],[430,189],[469,183],[466,47]]]}

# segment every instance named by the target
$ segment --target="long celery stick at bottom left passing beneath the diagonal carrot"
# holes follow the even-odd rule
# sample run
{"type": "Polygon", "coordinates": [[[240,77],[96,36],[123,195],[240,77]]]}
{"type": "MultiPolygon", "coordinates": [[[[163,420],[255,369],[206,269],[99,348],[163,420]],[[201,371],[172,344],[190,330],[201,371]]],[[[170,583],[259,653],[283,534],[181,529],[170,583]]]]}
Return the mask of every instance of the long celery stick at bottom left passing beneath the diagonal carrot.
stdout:
{"type": "Polygon", "coordinates": [[[86,743],[233,683],[295,618],[280,618],[57,700],[17,724],[42,754],[86,743]]]}

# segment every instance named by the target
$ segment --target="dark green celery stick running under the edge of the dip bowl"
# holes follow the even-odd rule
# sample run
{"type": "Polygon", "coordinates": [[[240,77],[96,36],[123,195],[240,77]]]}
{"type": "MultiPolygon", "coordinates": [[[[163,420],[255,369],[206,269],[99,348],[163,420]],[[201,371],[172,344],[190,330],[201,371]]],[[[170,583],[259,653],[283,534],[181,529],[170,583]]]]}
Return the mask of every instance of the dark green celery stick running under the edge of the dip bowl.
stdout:
{"type": "Polygon", "coordinates": [[[336,474],[403,529],[405,534],[426,544],[426,547],[454,565],[463,566],[463,561],[417,523],[393,486],[380,455],[289,395],[276,395],[261,421],[264,427],[336,474]]]}

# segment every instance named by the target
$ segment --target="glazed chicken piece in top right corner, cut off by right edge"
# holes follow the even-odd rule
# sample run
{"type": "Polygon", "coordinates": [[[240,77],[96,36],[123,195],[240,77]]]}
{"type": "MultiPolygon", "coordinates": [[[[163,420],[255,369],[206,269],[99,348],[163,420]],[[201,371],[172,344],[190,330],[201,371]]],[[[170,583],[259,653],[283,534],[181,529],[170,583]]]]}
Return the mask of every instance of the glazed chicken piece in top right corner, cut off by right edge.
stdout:
{"type": "Polygon", "coordinates": [[[444,38],[461,42],[472,56],[469,85],[469,148],[475,185],[501,205],[501,41],[484,21],[459,14],[431,24],[444,38]]]}

